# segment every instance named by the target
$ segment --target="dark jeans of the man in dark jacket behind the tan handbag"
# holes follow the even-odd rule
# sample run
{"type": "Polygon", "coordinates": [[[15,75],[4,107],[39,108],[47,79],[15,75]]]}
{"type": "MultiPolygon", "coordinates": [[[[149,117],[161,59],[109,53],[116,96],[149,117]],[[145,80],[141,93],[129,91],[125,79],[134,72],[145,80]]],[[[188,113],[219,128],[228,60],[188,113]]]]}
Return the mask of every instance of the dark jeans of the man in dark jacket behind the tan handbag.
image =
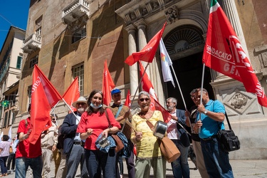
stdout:
{"type": "Polygon", "coordinates": [[[180,142],[180,140],[172,140],[172,142],[174,142],[174,144],[181,152],[181,155],[174,162],[171,163],[174,178],[182,178],[182,177],[189,178],[190,170],[187,161],[188,147],[184,147],[180,142]]]}

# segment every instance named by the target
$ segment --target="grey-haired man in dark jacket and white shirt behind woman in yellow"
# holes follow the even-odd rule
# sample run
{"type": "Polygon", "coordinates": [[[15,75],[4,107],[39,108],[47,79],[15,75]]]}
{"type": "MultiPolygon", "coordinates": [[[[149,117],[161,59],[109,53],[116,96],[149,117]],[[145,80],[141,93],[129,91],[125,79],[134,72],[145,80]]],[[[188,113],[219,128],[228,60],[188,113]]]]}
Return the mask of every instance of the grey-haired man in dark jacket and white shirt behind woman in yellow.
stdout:
{"type": "Polygon", "coordinates": [[[186,126],[186,117],[184,110],[177,110],[177,99],[168,98],[167,99],[167,110],[172,115],[172,119],[167,123],[167,137],[169,137],[172,142],[177,146],[181,152],[180,157],[178,157],[174,162],[172,162],[172,172],[175,178],[189,178],[189,164],[187,161],[188,149],[190,146],[189,138],[187,132],[183,129],[186,126]],[[179,124],[183,127],[181,127],[179,124]]]}

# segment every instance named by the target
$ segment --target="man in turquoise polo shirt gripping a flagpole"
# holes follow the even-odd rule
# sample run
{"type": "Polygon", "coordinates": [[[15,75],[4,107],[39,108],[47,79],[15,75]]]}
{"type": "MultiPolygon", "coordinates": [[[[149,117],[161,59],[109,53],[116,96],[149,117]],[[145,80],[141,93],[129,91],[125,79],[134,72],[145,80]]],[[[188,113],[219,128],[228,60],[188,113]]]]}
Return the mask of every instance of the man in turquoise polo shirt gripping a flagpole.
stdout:
{"type": "Polygon", "coordinates": [[[197,88],[194,93],[197,102],[197,122],[194,126],[195,132],[199,132],[201,149],[204,157],[206,171],[209,177],[234,177],[229,162],[229,152],[224,152],[219,147],[217,132],[224,130],[224,105],[219,100],[209,100],[206,89],[197,88]]]}

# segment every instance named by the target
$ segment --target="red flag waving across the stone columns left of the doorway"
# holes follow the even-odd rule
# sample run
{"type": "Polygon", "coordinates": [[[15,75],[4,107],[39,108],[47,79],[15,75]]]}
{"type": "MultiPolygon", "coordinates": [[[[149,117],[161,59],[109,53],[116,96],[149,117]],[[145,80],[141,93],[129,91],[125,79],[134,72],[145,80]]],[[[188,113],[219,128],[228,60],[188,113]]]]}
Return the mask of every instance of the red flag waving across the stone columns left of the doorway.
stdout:
{"type": "Polygon", "coordinates": [[[125,60],[125,63],[127,63],[129,66],[132,66],[137,61],[146,61],[147,63],[152,63],[165,26],[166,22],[164,23],[162,29],[157,32],[150,42],[147,43],[147,45],[140,52],[132,53],[132,55],[128,56],[125,60]]]}

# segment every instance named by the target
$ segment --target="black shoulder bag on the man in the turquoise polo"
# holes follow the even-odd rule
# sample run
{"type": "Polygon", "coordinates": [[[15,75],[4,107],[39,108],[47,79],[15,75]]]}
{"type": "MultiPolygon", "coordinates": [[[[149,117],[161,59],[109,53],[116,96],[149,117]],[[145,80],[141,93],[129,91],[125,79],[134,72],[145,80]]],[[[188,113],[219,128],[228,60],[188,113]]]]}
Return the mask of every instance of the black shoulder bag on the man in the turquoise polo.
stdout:
{"type": "Polygon", "coordinates": [[[237,137],[234,134],[234,131],[231,129],[231,125],[226,113],[225,116],[229,125],[229,130],[219,130],[219,132],[217,133],[221,149],[224,150],[224,152],[239,150],[240,149],[239,137],[237,137]]]}

